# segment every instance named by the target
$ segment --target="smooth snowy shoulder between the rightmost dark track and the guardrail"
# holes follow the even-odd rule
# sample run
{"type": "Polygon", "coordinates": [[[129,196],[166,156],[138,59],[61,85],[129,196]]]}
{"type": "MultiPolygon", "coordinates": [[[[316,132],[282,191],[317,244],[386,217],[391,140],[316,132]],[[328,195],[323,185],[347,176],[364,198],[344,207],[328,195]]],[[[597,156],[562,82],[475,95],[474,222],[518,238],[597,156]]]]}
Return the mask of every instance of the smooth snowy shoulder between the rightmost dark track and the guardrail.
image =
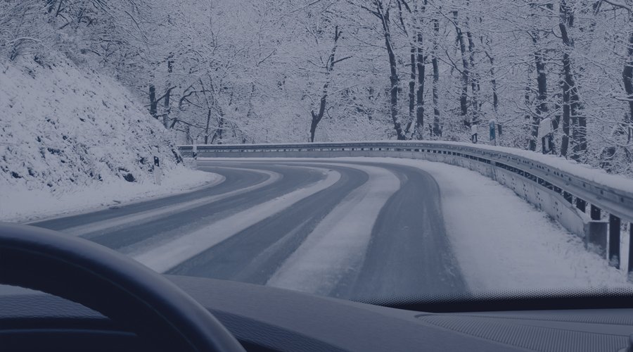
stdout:
{"type": "Polygon", "coordinates": [[[318,158],[318,161],[395,163],[430,173],[440,187],[447,235],[471,290],[630,284],[623,272],[585,250],[582,239],[511,189],[478,172],[445,163],[404,158],[318,158]]]}

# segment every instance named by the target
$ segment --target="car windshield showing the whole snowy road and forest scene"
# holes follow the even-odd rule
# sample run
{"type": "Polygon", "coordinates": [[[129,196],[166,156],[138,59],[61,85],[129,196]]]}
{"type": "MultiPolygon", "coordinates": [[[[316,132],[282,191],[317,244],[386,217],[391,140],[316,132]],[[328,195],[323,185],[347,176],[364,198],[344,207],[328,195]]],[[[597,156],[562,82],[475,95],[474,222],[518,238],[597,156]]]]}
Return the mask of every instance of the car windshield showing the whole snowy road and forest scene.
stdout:
{"type": "Polygon", "coordinates": [[[354,300],[630,287],[632,8],[0,1],[0,221],[354,300]]]}

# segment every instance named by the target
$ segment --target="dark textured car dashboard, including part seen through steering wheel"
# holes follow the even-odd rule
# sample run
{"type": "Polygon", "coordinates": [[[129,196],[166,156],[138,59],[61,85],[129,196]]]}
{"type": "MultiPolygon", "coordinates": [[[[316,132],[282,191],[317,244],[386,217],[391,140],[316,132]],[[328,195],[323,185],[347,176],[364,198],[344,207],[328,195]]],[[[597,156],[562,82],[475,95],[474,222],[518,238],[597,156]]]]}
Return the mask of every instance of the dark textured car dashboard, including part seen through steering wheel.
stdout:
{"type": "MultiPolygon", "coordinates": [[[[247,351],[615,352],[633,334],[631,308],[421,313],[241,282],[167,278],[247,351]]],[[[133,333],[103,315],[41,293],[0,297],[0,346],[143,350],[133,333]]]]}

